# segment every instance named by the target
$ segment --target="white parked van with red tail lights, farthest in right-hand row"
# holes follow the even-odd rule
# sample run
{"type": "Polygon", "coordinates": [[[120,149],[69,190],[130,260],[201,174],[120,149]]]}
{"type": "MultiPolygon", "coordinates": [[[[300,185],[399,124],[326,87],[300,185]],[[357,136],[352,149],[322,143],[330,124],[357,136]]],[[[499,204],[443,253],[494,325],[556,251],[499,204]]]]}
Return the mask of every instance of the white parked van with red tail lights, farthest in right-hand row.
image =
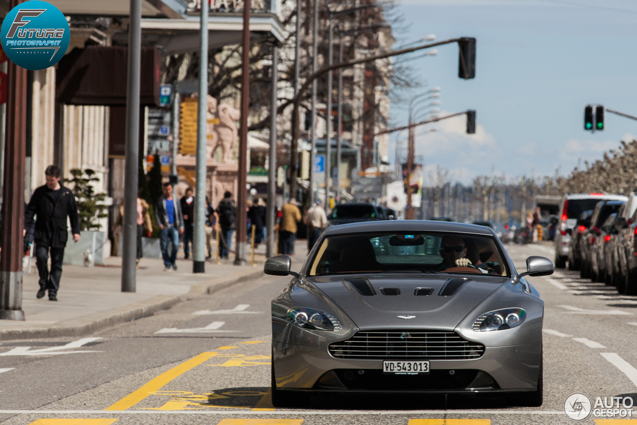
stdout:
{"type": "Polygon", "coordinates": [[[594,209],[601,200],[622,200],[626,202],[627,197],[622,195],[606,195],[604,193],[578,193],[576,195],[565,195],[562,199],[562,213],[559,217],[557,232],[555,232],[555,268],[566,267],[568,259],[568,242],[571,240],[571,232],[575,227],[577,217],[583,211],[594,209]],[[571,232],[567,232],[567,230],[571,232]]]}

